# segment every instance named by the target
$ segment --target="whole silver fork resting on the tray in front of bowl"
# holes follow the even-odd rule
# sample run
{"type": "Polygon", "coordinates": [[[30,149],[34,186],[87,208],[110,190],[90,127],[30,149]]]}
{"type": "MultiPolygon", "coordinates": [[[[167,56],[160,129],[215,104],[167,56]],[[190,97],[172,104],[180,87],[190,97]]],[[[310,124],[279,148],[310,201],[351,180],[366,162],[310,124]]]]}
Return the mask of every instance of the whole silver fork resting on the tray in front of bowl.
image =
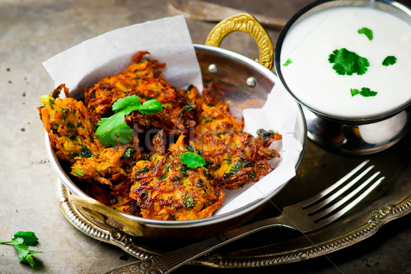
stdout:
{"type": "Polygon", "coordinates": [[[286,206],[279,216],[243,225],[219,236],[208,238],[176,251],[125,264],[107,273],[170,273],[195,258],[199,258],[229,242],[262,229],[280,226],[306,233],[324,227],[336,221],[360,203],[385,179],[384,176],[375,179],[380,174],[377,171],[360,184],[360,179],[365,178],[371,169],[375,167],[371,165],[365,168],[368,163],[369,160],[362,162],[343,178],[339,179],[338,182],[319,194],[300,203],[286,206]],[[347,182],[349,179],[351,180],[347,182]],[[354,190],[351,190],[357,183],[360,186],[356,186],[354,190]]]}

